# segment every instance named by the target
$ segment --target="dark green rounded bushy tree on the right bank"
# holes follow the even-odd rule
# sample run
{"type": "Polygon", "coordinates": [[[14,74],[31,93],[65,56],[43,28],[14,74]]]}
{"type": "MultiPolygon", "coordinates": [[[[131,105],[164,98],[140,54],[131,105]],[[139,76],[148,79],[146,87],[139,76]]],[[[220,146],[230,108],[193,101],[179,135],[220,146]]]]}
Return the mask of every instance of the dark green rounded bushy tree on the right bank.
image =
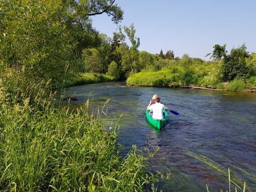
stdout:
{"type": "Polygon", "coordinates": [[[246,58],[249,57],[249,53],[246,51],[246,45],[233,48],[229,55],[225,55],[224,62],[221,67],[222,80],[233,80],[239,77],[249,77],[250,68],[246,64],[246,58]]]}

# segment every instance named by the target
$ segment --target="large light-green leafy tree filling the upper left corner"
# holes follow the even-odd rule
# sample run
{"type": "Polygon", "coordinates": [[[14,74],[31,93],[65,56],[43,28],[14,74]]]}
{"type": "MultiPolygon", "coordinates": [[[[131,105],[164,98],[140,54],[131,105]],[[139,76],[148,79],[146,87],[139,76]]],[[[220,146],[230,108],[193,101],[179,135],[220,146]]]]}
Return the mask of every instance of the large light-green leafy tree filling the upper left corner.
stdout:
{"type": "Polygon", "coordinates": [[[16,97],[48,95],[75,71],[61,6],[57,0],[0,1],[0,77],[16,97]]]}

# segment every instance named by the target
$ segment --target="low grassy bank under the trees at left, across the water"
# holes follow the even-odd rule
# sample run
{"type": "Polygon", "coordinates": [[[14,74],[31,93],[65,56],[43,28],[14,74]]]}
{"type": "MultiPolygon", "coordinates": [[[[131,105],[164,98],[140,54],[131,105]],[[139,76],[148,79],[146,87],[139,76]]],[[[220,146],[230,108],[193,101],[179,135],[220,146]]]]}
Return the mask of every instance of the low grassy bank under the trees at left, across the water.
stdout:
{"type": "Polygon", "coordinates": [[[65,87],[78,86],[92,83],[110,82],[114,77],[98,73],[82,73],[76,77],[69,78],[65,82],[65,87]]]}

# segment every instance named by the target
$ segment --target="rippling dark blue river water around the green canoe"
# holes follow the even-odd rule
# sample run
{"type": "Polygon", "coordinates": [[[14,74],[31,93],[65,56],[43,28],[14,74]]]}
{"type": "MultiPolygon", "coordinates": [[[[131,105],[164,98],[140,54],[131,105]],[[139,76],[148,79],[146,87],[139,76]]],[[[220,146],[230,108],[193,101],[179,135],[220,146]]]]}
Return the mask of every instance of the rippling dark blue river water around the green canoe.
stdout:
{"type": "Polygon", "coordinates": [[[149,169],[160,170],[172,177],[158,183],[163,191],[213,191],[228,187],[228,172],[248,191],[256,191],[256,94],[153,87],[126,87],[125,82],[98,83],[71,87],[78,101],[86,102],[89,93],[92,107],[107,106],[106,126],[119,122],[120,140],[124,147],[159,152],[149,160],[149,169]],[[179,112],[168,114],[162,130],[156,130],[145,119],[146,106],[157,93],[162,103],[179,112]]]}

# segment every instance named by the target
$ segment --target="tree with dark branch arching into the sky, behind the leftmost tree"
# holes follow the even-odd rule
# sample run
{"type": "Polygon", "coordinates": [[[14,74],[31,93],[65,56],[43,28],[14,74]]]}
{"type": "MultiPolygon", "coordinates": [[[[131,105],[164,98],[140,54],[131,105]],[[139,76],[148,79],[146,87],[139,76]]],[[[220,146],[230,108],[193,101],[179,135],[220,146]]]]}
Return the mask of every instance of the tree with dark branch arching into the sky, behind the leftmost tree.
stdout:
{"type": "Polygon", "coordinates": [[[115,0],[62,0],[56,16],[69,31],[76,56],[81,56],[84,48],[100,46],[101,39],[90,17],[104,13],[116,24],[123,19],[123,11],[115,0]]]}

